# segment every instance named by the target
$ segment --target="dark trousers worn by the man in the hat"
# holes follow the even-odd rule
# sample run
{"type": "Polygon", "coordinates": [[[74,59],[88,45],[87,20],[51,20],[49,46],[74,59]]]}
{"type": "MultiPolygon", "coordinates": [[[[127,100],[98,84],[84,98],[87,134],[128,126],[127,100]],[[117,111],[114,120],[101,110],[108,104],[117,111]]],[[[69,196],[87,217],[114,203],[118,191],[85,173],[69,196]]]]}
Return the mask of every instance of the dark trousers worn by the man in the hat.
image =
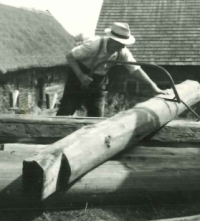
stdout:
{"type": "MultiPolygon", "coordinates": [[[[80,64],[80,67],[85,74],[90,73],[90,70],[82,64],[80,64]]],[[[83,88],[76,74],[70,68],[57,116],[73,115],[82,104],[84,104],[87,109],[87,116],[104,116],[105,88],[108,83],[108,78],[107,76],[99,76],[96,74],[94,74],[92,78],[93,81],[90,86],[83,88]]]]}

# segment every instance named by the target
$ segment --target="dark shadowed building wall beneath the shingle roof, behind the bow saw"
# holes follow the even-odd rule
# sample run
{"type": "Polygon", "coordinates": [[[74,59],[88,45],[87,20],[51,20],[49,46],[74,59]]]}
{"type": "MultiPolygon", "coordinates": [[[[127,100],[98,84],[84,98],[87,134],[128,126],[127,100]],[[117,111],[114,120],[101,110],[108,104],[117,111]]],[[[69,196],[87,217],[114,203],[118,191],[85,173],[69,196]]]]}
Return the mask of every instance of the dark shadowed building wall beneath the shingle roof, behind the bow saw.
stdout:
{"type": "MultiPolygon", "coordinates": [[[[179,84],[185,80],[200,81],[200,66],[162,66],[173,78],[175,84],[179,84]]],[[[155,67],[141,66],[147,75],[162,89],[171,88],[171,83],[167,75],[160,69],[155,67]]],[[[128,90],[135,93],[149,94],[150,88],[143,82],[130,79],[127,69],[122,65],[114,66],[108,72],[112,79],[110,87],[111,91],[123,91],[127,87],[125,81],[128,82],[128,90]]]]}

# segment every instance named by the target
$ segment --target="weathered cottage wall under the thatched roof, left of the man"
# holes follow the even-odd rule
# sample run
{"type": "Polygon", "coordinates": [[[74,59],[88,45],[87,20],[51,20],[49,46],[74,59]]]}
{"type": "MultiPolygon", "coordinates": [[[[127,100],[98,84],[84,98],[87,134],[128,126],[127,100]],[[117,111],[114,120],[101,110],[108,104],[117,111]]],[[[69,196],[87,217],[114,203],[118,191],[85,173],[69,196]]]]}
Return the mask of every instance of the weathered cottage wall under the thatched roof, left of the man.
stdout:
{"type": "MultiPolygon", "coordinates": [[[[12,109],[28,112],[34,106],[47,108],[47,94],[62,96],[67,67],[21,70],[0,75],[0,112],[12,109]],[[12,107],[12,92],[19,91],[16,107],[12,107]]],[[[51,97],[51,96],[50,96],[51,97]]]]}

